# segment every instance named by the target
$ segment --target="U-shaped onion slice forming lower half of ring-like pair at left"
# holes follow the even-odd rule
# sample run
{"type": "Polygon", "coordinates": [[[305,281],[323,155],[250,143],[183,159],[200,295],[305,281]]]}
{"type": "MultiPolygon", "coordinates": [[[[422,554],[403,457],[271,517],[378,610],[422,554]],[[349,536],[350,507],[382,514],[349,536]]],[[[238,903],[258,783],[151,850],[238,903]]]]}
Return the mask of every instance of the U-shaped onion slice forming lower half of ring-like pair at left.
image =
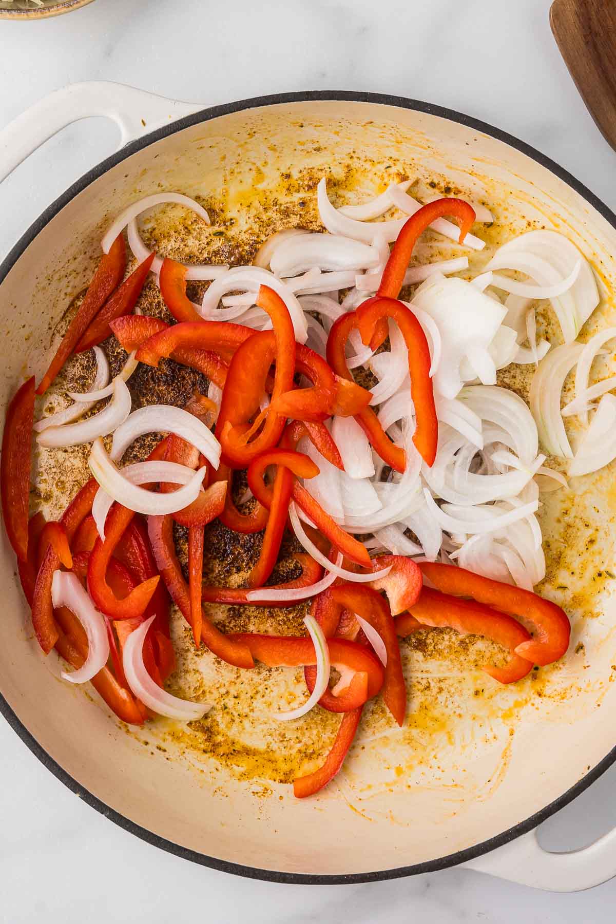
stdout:
{"type": "Polygon", "coordinates": [[[123,475],[122,469],[117,468],[110,456],[107,455],[103,440],[100,437],[92,444],[88,465],[103,491],[109,494],[113,500],[124,507],[128,507],[129,510],[134,510],[135,513],[144,514],[148,517],[162,517],[166,514],[174,514],[177,510],[182,510],[187,505],[192,504],[197,499],[207,471],[207,468],[203,466],[198,471],[192,472],[190,480],[176,491],[164,494],[148,491],[145,488],[139,488],[137,484],[123,475]]]}

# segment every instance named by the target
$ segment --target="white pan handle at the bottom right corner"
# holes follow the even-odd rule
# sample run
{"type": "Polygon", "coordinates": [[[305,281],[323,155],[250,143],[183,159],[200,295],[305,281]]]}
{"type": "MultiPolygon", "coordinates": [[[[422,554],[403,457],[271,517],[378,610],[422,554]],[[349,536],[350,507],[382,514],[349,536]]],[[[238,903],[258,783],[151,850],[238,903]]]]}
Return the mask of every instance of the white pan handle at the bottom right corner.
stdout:
{"type": "Polygon", "coordinates": [[[582,892],[616,876],[616,828],[583,850],[552,854],[531,831],[463,864],[490,876],[550,892],[582,892]]]}

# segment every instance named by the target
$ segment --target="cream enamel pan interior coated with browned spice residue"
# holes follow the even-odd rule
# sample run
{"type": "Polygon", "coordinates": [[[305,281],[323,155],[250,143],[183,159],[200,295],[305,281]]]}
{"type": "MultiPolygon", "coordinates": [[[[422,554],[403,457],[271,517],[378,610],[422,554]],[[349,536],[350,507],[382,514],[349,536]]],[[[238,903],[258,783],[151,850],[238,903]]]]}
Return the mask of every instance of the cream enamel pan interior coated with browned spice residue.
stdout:
{"type": "MultiPolygon", "coordinates": [[[[274,230],[320,228],[321,176],[336,204],[371,198],[405,178],[415,180],[417,195],[485,202],[495,222],[477,225],[487,248],[468,252],[468,274],[513,234],[561,231],[598,275],[601,303],[588,334],[614,323],[616,232],[547,167],[441,116],[377,103],[284,103],[218,116],[152,143],[84,188],[42,227],[2,284],[3,400],[26,371],[37,378],[42,373],[91,276],[103,231],[129,202],[162,190],[186,193],[208,210],[211,227],[169,207],[143,222],[145,242],[182,261],[244,263],[274,230]]],[[[458,252],[453,243],[427,235],[417,260],[458,252]]],[[[199,295],[199,286],[192,294],[199,295]]],[[[153,282],[142,302],[146,313],[164,316],[153,282]]],[[[549,314],[542,319],[546,327],[552,322],[549,314]]],[[[110,360],[116,372],[123,355],[112,349],[110,360]]],[[[522,369],[502,383],[525,395],[522,369]]],[[[92,370],[89,355],[77,360],[39,410],[61,407],[67,386],[86,390],[92,370]]],[[[181,404],[194,376],[169,372],[166,385],[155,385],[150,371],[136,373],[134,400],[148,396],[151,403],[151,389],[161,387],[161,400],[181,404]]],[[[86,458],[83,447],[41,451],[33,503],[57,516],[88,478],[86,458]]],[[[403,648],[409,690],[404,728],[373,705],[343,771],[312,799],[294,799],[289,784],[322,760],[338,719],[320,710],[296,723],[272,719],[272,711],[293,708],[302,698],[300,672],[239,671],[205,650],[197,655],[175,614],[178,670],[169,688],[214,708],[189,726],[159,719],[128,729],[93,691],[59,679],[54,653],[42,657],[4,534],[2,694],[42,748],[91,794],[197,854],[304,875],[361,875],[452,855],[549,805],[613,746],[606,722],[616,702],[610,468],[542,500],[548,574],[539,590],[571,615],[567,656],[501,687],[480,669],[494,654],[485,641],[447,630],[417,633],[403,648]]],[[[238,584],[257,551],[250,537],[232,541],[223,528],[211,529],[206,577],[238,584]]],[[[281,580],[285,567],[292,563],[283,565],[281,580]]],[[[292,634],[301,631],[305,612],[212,607],[211,616],[230,631],[292,634]]]]}

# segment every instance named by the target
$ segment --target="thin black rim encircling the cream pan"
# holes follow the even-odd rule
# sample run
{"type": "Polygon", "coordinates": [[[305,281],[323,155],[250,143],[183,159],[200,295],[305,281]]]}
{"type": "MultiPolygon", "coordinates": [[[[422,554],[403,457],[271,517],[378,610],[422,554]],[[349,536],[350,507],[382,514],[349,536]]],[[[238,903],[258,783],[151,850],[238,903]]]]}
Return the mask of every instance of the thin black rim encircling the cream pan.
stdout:
{"type": "MultiPolygon", "coordinates": [[[[562,179],[564,183],[573,188],[575,192],[577,192],[580,196],[582,196],[583,199],[592,205],[593,208],[600,215],[602,215],[602,217],[605,218],[606,221],[610,223],[610,225],[612,225],[612,227],[616,228],[616,214],[614,214],[611,209],[608,208],[608,206],[603,201],[601,201],[598,196],[595,195],[595,193],[591,192],[590,189],[588,189],[583,183],[572,176],[567,170],[552,161],[551,158],[546,154],[543,154],[537,151],[537,149],[533,148],[531,145],[526,144],[525,141],[521,141],[515,138],[513,135],[510,135],[508,132],[502,131],[500,128],[495,128],[494,126],[491,126],[489,123],[483,122],[480,119],[474,118],[472,116],[466,116],[464,113],[459,113],[454,109],[448,109],[444,106],[434,105],[432,103],[423,103],[419,100],[408,99],[404,96],[393,96],[385,93],[370,93],[346,90],[318,90],[274,93],[269,96],[257,96],[248,100],[239,100],[236,103],[224,103],[218,106],[205,107],[199,112],[178,119],[168,126],[164,126],[163,128],[159,128],[156,131],[151,132],[149,135],[145,135],[143,138],[131,141],[120,151],[117,151],[109,157],[105,158],[105,160],[103,160],[100,164],[94,166],[90,171],[88,171],[88,173],[84,174],[84,176],[81,176],[76,183],[66,189],[66,192],[59,196],[47,209],[45,209],[41,216],[37,218],[37,220],[33,222],[32,225],[30,225],[30,228],[25,232],[24,235],[22,235],[22,237],[20,237],[18,243],[10,250],[5,260],[0,264],[0,284],[4,281],[6,275],[10,272],[16,261],[18,261],[18,258],[21,256],[21,254],[30,246],[32,240],[42,231],[42,228],[47,225],[51,219],[54,218],[54,216],[64,208],[67,202],[74,199],[75,196],[79,194],[79,192],[88,187],[95,179],[98,179],[99,176],[103,176],[103,174],[111,169],[111,167],[115,166],[115,164],[120,164],[135,152],[148,147],[152,142],[166,138],[169,135],[173,135],[175,132],[181,131],[183,128],[188,128],[189,126],[196,125],[200,122],[207,122],[212,118],[216,118],[218,116],[226,116],[230,113],[236,113],[241,110],[254,109],[259,106],[278,105],[284,103],[304,103],[317,100],[333,102],[350,101],[356,103],[380,103],[382,105],[397,106],[401,109],[416,110],[417,112],[426,113],[431,116],[440,116],[441,118],[448,119],[451,122],[457,122],[460,125],[464,125],[467,128],[475,128],[477,131],[480,131],[486,135],[490,135],[492,138],[504,141],[506,144],[509,144],[511,147],[515,148],[517,151],[524,153],[527,157],[530,157],[532,160],[536,161],[537,164],[546,167],[548,170],[550,170],[551,173],[553,173],[555,176],[558,176],[559,179],[562,179]]],[[[117,824],[120,828],[123,828],[125,831],[135,834],[142,841],[145,841],[146,843],[153,846],[160,847],[162,850],[167,851],[167,853],[174,854],[175,857],[182,857],[183,859],[190,860],[193,863],[198,863],[200,866],[217,869],[222,872],[233,873],[237,876],[244,876],[247,879],[295,883],[299,885],[340,885],[359,884],[361,882],[385,881],[390,879],[399,879],[403,876],[414,876],[418,875],[419,873],[436,872],[440,869],[447,869],[449,867],[458,866],[461,863],[466,863],[470,860],[476,859],[477,857],[481,857],[492,850],[495,850],[497,847],[509,844],[515,838],[520,837],[522,834],[532,831],[537,827],[537,825],[541,824],[542,821],[546,821],[548,818],[550,818],[551,815],[555,814],[555,812],[560,811],[561,808],[564,808],[566,805],[572,802],[576,796],[579,796],[581,793],[583,793],[590,784],[598,780],[598,777],[601,776],[602,773],[606,772],[609,767],[614,762],[616,762],[615,746],[610,750],[610,753],[608,753],[602,760],[598,762],[596,767],[587,772],[581,780],[571,786],[571,788],[563,793],[562,796],[559,796],[557,799],[554,799],[552,802],[550,802],[548,806],[541,808],[525,821],[520,821],[518,824],[513,825],[513,827],[507,829],[507,831],[504,831],[501,834],[497,834],[494,837],[489,838],[487,841],[482,841],[480,844],[467,847],[465,850],[459,850],[453,854],[449,854],[446,857],[437,857],[432,860],[427,860],[423,863],[397,867],[396,869],[381,869],[375,872],[351,873],[348,875],[334,874],[330,876],[323,873],[312,874],[282,872],[275,869],[259,869],[257,867],[243,866],[241,864],[233,863],[227,860],[221,860],[216,857],[208,857],[207,855],[201,854],[196,850],[175,844],[159,834],[152,833],[151,831],[148,831],[147,828],[141,827],[135,821],[131,821],[126,816],[116,812],[114,808],[107,806],[101,799],[97,798],[97,796],[93,796],[90,790],[88,790],[85,786],[78,783],[78,781],[75,780],[70,775],[70,773],[66,772],[66,770],[61,767],[30,734],[26,726],[21,723],[16,713],[8,705],[2,694],[0,694],[0,712],[2,712],[6,718],[6,721],[21,738],[26,747],[30,748],[30,751],[42,762],[43,766],[45,766],[50,772],[54,773],[54,776],[57,777],[61,783],[65,784],[71,792],[82,798],[84,802],[91,806],[91,808],[95,808],[105,818],[108,818],[110,821],[114,821],[115,824],[117,824]]]]}

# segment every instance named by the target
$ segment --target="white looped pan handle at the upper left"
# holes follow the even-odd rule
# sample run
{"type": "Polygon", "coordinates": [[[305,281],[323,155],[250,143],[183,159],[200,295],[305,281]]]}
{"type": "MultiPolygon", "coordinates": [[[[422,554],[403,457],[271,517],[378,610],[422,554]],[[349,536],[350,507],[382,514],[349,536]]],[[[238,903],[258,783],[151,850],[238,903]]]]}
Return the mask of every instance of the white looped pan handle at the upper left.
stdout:
{"type": "Polygon", "coordinates": [[[0,131],[0,182],[44,141],[79,119],[106,116],[120,129],[120,144],[147,135],[203,106],[180,103],[122,83],[72,83],[34,103],[0,131]]]}

